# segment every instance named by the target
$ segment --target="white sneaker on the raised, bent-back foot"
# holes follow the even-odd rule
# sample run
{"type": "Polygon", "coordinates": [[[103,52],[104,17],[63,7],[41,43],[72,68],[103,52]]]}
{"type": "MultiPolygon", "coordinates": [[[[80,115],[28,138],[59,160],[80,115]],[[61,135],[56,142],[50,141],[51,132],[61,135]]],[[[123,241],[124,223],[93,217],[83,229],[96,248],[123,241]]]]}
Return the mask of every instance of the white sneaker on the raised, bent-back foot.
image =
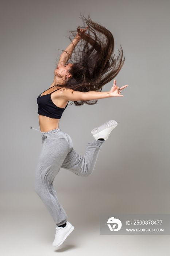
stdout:
{"type": "Polygon", "coordinates": [[[117,122],[110,120],[105,124],[100,125],[97,128],[94,128],[91,133],[95,140],[104,139],[107,140],[111,131],[117,126],[117,122]]]}

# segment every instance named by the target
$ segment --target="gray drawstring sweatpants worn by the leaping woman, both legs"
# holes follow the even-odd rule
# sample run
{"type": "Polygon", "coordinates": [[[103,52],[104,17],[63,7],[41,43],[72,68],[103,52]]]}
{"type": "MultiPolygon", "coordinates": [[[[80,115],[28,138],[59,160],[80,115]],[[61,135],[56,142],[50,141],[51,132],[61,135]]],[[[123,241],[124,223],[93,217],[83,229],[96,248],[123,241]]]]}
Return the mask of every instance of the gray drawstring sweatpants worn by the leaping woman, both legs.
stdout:
{"type": "Polygon", "coordinates": [[[104,141],[89,142],[84,157],[73,150],[72,139],[60,128],[42,132],[42,152],[35,175],[35,191],[49,210],[57,225],[66,222],[66,212],[58,202],[53,180],[59,169],[65,168],[79,176],[92,174],[104,141]]]}

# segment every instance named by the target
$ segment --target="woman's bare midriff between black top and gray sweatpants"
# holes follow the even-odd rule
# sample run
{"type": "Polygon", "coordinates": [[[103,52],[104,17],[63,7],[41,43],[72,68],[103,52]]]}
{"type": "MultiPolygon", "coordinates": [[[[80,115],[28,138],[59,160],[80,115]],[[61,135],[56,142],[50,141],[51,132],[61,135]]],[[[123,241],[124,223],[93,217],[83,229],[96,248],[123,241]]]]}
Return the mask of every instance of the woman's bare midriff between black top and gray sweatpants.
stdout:
{"type": "Polygon", "coordinates": [[[47,116],[39,115],[39,127],[41,132],[49,132],[59,128],[59,120],[47,116]]]}

